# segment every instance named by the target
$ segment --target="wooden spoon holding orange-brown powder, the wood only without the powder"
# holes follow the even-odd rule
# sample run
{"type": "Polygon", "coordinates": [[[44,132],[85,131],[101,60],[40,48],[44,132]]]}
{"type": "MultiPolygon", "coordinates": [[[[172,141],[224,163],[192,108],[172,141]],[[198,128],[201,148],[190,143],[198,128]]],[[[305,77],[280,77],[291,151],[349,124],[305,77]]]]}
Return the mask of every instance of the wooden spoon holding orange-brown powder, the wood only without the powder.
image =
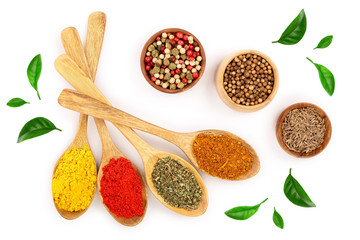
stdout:
{"type": "MultiPolygon", "coordinates": [[[[227,135],[231,138],[240,141],[247,149],[249,149],[251,155],[254,158],[253,166],[246,175],[239,176],[236,180],[245,180],[255,176],[260,169],[260,160],[255,150],[245,140],[240,137],[221,130],[203,130],[193,133],[177,133],[173,132],[154,124],[148,123],[137,117],[134,117],[124,111],[116,109],[106,103],[100,102],[90,96],[81,94],[79,92],[65,89],[59,96],[59,104],[65,108],[86,113],[91,116],[105,119],[114,124],[122,124],[127,127],[135,128],[144,132],[151,133],[158,137],[161,137],[169,142],[177,145],[190,159],[195,167],[198,168],[196,157],[193,153],[193,142],[197,135],[200,133],[214,134],[214,135],[227,135]]],[[[200,171],[203,171],[200,169],[200,171]]],[[[204,173],[207,173],[203,171],[204,173]]]]}

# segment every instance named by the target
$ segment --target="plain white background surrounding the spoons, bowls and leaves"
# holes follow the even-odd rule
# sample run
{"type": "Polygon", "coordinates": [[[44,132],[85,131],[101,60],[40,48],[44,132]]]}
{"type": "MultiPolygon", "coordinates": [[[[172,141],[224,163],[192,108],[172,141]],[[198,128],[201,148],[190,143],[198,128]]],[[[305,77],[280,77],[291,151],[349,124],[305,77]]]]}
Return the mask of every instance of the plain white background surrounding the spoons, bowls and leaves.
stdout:
{"type": "MultiPolygon", "coordinates": [[[[358,239],[359,238],[359,17],[357,1],[1,1],[0,4],[0,148],[2,183],[1,235],[6,239],[358,239]],[[304,8],[306,34],[297,45],[272,44],[304,8]],[[231,182],[201,173],[209,192],[204,215],[189,218],[171,212],[149,192],[144,220],[136,227],[117,223],[102,206],[99,196],[76,220],[65,220],[55,210],[51,178],[56,160],[71,143],[78,114],[60,107],[57,97],[70,85],[54,68],[64,52],[60,33],[75,26],[84,41],[87,18],[93,11],[107,15],[107,26],[96,84],[114,106],[165,128],[191,132],[223,129],[244,138],[257,151],[260,172],[252,179],[231,182]],[[207,55],[205,74],[191,90],[169,95],[158,92],[143,78],[139,56],[143,44],[156,31],[180,27],[202,42],[207,55]],[[328,49],[312,50],[320,39],[333,34],[328,49]],[[241,49],[264,52],[278,67],[279,90],[266,108],[255,113],[229,109],[217,96],[214,76],[223,58],[241,49]],[[26,76],[30,60],[43,59],[39,101],[26,76]],[[328,67],[336,79],[332,97],[323,90],[315,67],[328,67]],[[30,101],[9,108],[13,97],[30,101]],[[311,102],[329,115],[333,135],[318,156],[297,159],[277,143],[275,122],[280,112],[297,102],[311,102]],[[17,144],[22,126],[43,116],[62,132],[17,144]],[[290,203],[283,193],[289,168],[316,208],[290,203]],[[252,218],[236,221],[224,211],[269,200],[252,218]],[[285,229],[272,222],[274,206],[285,229]],[[45,239],[45,238],[44,238],[45,239]]],[[[111,125],[111,136],[120,150],[143,171],[134,148],[111,125]]],[[[101,144],[93,119],[89,141],[97,163],[101,144]]],[[[148,134],[151,145],[186,159],[174,145],[148,134]]]]}

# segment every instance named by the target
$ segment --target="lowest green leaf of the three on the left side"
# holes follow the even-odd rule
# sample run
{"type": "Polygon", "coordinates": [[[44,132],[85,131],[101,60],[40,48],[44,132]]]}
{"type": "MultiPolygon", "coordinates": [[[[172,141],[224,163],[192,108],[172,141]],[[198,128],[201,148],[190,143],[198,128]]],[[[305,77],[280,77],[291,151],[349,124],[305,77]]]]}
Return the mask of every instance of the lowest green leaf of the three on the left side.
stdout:
{"type": "Polygon", "coordinates": [[[55,125],[50,120],[46,118],[34,118],[28,121],[21,129],[17,142],[20,143],[22,141],[44,135],[48,132],[51,132],[52,130],[61,131],[60,129],[55,127],[55,125]]]}

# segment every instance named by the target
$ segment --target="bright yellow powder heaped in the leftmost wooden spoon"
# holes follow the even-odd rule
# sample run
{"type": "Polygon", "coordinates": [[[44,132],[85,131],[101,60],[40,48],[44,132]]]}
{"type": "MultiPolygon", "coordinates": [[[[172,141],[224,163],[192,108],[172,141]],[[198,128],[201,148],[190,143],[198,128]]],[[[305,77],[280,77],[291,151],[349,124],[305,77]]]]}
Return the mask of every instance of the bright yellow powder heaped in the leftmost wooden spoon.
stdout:
{"type": "Polygon", "coordinates": [[[52,195],[56,206],[66,211],[86,209],[94,196],[96,165],[88,146],[65,152],[53,175],[52,195]]]}

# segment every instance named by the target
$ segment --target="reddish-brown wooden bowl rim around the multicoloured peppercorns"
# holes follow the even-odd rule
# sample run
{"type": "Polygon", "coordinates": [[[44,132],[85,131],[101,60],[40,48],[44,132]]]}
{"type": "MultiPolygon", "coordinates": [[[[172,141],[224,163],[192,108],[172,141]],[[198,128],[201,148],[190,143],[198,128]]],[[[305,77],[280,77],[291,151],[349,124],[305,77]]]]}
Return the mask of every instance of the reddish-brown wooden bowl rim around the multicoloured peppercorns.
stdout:
{"type": "Polygon", "coordinates": [[[154,35],[152,35],[149,40],[147,40],[147,42],[145,43],[144,45],[144,48],[141,52],[141,55],[140,55],[140,67],[141,67],[141,72],[142,74],[144,75],[146,81],[155,89],[161,91],[161,92],[164,92],[164,93],[179,93],[179,92],[184,92],[186,90],[189,90],[190,88],[192,88],[193,86],[195,86],[195,84],[197,84],[200,80],[200,78],[202,77],[202,75],[204,74],[204,71],[205,71],[205,66],[206,66],[206,55],[205,55],[205,51],[204,51],[204,48],[203,46],[201,45],[201,42],[199,41],[199,39],[197,39],[195,37],[194,34],[184,30],[184,29],[181,29],[181,28],[166,28],[166,29],[163,29],[163,30],[160,30],[158,31],[157,33],[155,33],[154,35]],[[201,61],[201,69],[200,69],[200,72],[199,72],[199,77],[197,79],[195,79],[194,81],[192,81],[192,83],[190,83],[189,85],[186,85],[185,87],[183,88],[177,88],[175,90],[170,90],[168,88],[163,88],[161,87],[160,85],[156,85],[154,82],[151,81],[150,79],[150,74],[146,71],[145,69],[145,55],[146,55],[146,52],[147,52],[147,48],[149,47],[150,44],[152,44],[154,41],[155,41],[155,38],[159,35],[161,35],[163,32],[170,32],[170,33],[176,33],[176,32],[182,32],[184,34],[187,34],[189,36],[192,36],[194,38],[194,41],[197,42],[199,44],[199,47],[200,47],[200,54],[201,54],[201,57],[202,57],[202,61],[201,61]]]}

